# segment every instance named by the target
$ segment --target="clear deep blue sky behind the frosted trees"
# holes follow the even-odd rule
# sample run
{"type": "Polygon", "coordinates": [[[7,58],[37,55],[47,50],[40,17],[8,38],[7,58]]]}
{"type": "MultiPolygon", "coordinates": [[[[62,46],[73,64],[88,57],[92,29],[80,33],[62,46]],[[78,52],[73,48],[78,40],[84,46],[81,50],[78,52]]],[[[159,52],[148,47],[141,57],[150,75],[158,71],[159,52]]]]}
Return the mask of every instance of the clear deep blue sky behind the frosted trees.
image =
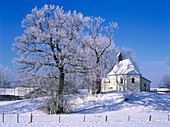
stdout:
{"type": "Polygon", "coordinates": [[[16,52],[11,48],[14,38],[23,33],[21,21],[32,8],[44,4],[118,22],[116,46],[133,49],[142,75],[152,81],[152,87],[170,73],[165,64],[170,58],[169,0],[0,0],[0,64],[12,66],[16,52]]]}

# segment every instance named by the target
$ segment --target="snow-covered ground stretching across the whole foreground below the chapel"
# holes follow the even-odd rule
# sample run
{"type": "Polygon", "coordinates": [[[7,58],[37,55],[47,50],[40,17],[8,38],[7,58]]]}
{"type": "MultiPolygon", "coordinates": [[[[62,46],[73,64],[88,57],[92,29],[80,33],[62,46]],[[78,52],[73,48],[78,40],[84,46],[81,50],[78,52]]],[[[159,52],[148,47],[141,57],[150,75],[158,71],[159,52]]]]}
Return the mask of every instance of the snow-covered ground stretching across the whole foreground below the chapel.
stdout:
{"type": "Polygon", "coordinates": [[[72,113],[62,115],[47,115],[38,110],[43,98],[3,101],[0,127],[170,127],[170,95],[129,92],[129,100],[124,101],[124,94],[127,93],[81,94],[73,99],[72,113]],[[5,113],[4,123],[2,113],[5,113]],[[29,123],[31,113],[33,121],[29,123]]]}

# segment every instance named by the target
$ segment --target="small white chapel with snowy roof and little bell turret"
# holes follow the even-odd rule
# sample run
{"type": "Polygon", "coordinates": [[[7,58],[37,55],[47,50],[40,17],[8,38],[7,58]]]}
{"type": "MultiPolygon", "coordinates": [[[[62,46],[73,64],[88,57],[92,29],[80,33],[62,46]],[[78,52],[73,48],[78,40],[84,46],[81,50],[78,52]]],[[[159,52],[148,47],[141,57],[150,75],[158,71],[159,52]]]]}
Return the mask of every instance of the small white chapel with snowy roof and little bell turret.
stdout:
{"type": "Polygon", "coordinates": [[[148,79],[142,77],[130,59],[122,60],[122,54],[117,55],[117,64],[107,78],[102,79],[101,91],[150,91],[148,79]]]}

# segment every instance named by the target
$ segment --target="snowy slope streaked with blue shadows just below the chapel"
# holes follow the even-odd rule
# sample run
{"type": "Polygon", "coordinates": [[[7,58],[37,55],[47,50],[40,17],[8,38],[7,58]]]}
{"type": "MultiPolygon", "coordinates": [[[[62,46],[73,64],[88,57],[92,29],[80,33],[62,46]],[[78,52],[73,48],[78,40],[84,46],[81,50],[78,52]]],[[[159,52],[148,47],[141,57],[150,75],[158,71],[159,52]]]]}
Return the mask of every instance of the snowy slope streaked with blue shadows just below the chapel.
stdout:
{"type": "Polygon", "coordinates": [[[103,113],[109,111],[119,111],[123,108],[143,106],[143,108],[149,108],[156,111],[170,111],[170,96],[168,94],[159,94],[151,92],[105,92],[102,96],[107,94],[113,95],[113,98],[107,100],[92,100],[90,106],[86,108],[77,109],[73,113],[79,114],[93,114],[103,113]],[[112,94],[113,93],[113,94],[112,94]],[[128,94],[128,101],[124,100],[123,94],[128,94]],[[114,99],[114,96],[120,96],[114,99]],[[118,101],[118,102],[117,102],[118,101]]]}

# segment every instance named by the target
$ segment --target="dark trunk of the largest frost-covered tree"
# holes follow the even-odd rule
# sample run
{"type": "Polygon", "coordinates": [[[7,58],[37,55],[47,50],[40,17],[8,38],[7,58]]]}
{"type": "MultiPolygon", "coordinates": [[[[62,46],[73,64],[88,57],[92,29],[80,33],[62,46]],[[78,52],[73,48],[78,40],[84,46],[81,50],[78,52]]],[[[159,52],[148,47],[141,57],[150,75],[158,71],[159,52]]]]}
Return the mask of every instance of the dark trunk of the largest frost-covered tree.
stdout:
{"type": "Polygon", "coordinates": [[[58,90],[58,112],[63,113],[63,87],[64,87],[64,67],[59,68],[59,90],[58,90]]]}

